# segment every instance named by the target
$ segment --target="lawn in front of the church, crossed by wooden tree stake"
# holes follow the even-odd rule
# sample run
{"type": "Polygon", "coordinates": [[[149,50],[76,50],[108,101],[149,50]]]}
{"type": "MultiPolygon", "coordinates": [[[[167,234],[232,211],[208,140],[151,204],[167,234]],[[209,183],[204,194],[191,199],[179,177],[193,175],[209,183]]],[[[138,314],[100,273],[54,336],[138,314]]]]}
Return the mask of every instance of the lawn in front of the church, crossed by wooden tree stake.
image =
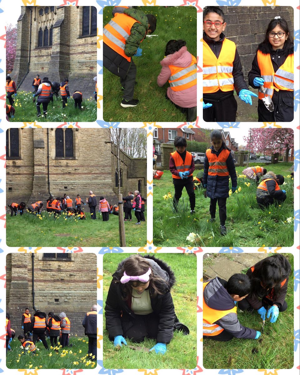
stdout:
{"type": "MultiPolygon", "coordinates": [[[[146,212],[145,217],[147,220],[146,212]]],[[[52,214],[42,211],[41,218],[27,212],[23,216],[18,214],[11,217],[7,214],[7,246],[120,246],[118,216],[110,215],[108,221],[103,221],[102,216],[97,212],[98,219],[91,220],[90,213],[86,212],[87,220],[65,219],[63,214],[54,220],[52,214]]],[[[147,221],[142,222],[141,225],[134,223],[134,215],[132,221],[124,223],[126,246],[145,246],[147,221]]]]}

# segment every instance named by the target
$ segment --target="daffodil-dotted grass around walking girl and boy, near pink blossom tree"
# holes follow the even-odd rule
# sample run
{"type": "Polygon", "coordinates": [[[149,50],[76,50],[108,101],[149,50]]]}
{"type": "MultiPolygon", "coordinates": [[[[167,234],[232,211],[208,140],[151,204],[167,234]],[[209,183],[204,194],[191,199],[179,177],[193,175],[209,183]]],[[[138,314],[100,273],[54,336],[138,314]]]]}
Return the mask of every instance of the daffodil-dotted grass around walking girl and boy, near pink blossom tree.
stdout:
{"type": "MultiPolygon", "coordinates": [[[[251,163],[249,165],[255,165],[251,163]]],[[[264,165],[264,164],[261,164],[264,165]]],[[[245,167],[236,168],[238,179],[237,186],[240,191],[232,194],[227,199],[226,210],[227,235],[220,236],[220,220],[218,207],[216,222],[210,223],[209,198],[204,198],[204,189],[196,188],[195,215],[190,215],[189,199],[183,189],[179,201],[180,214],[172,211],[172,198],[163,199],[171,192],[174,195],[174,186],[170,171],[164,171],[160,180],[155,180],[153,191],[153,243],[155,246],[292,246],[294,243],[294,225],[287,222],[287,218],[294,217],[294,186],[290,177],[292,163],[267,164],[268,171],[285,176],[285,185],[282,189],[287,191],[287,199],[281,207],[270,205],[261,210],[256,202],[256,184],[243,177],[245,167]],[[201,238],[196,243],[189,242],[186,237],[190,232],[198,234],[201,238]]],[[[195,170],[194,175],[197,174],[195,170]]],[[[231,188],[231,184],[229,183],[231,188]]]]}

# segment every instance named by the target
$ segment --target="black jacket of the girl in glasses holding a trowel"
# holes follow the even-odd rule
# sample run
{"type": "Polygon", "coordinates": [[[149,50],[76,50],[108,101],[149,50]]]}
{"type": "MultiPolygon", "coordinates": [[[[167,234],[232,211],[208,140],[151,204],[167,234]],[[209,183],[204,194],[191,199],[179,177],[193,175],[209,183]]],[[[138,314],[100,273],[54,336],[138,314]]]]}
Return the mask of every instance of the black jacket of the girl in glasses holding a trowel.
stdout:
{"type": "MultiPolygon", "coordinates": [[[[274,72],[276,72],[285,62],[288,55],[294,54],[294,46],[290,42],[285,43],[284,48],[276,49],[276,51],[272,48],[270,43],[268,43],[267,45],[264,43],[260,43],[260,45],[258,46],[258,50],[263,52],[263,54],[270,54],[274,72]]],[[[254,86],[253,84],[255,77],[261,77],[261,71],[257,61],[257,53],[252,62],[252,69],[248,73],[248,80],[250,86],[252,86],[254,89],[258,89],[258,87],[254,86]]],[[[294,91],[274,90],[272,102],[274,103],[274,111],[270,112],[263,104],[263,101],[258,99],[258,121],[293,121],[294,91]]]]}

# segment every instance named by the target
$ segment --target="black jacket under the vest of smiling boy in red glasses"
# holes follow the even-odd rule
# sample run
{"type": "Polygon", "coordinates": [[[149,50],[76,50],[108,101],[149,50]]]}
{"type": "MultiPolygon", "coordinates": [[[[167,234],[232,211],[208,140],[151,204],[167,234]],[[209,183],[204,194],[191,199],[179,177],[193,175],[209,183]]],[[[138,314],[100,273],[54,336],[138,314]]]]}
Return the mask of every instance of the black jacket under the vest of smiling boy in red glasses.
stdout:
{"type": "MultiPolygon", "coordinates": [[[[214,55],[216,55],[216,57],[218,58],[221,52],[223,41],[225,39],[225,35],[221,33],[220,40],[217,40],[217,42],[215,42],[213,39],[210,39],[210,37],[208,37],[205,33],[203,33],[203,39],[209,45],[214,55]]],[[[234,89],[236,90],[237,95],[239,95],[242,89],[248,90],[248,86],[244,80],[242,64],[241,64],[240,56],[237,52],[237,49],[236,49],[236,55],[234,56],[234,60],[233,60],[232,75],[234,79],[234,89]]],[[[218,90],[215,93],[203,94],[203,99],[205,99],[205,101],[208,101],[208,102],[218,102],[220,100],[229,98],[229,96],[231,95],[233,95],[233,91],[223,92],[222,90],[218,90]]]]}

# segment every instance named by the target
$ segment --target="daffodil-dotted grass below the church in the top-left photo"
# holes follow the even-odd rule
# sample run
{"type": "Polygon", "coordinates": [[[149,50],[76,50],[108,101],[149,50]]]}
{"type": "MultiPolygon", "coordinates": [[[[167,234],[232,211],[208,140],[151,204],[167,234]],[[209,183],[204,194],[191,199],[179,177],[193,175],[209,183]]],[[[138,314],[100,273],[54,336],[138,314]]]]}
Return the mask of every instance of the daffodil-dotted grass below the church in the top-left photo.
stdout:
{"type": "MultiPolygon", "coordinates": [[[[84,93],[83,93],[84,97],[84,93]]],[[[84,98],[81,106],[82,110],[75,109],[74,99],[68,99],[67,107],[63,109],[62,97],[59,95],[58,98],[53,97],[53,103],[50,102],[47,108],[47,117],[43,116],[43,106],[40,106],[42,113],[41,117],[36,118],[36,102],[32,102],[31,91],[18,91],[18,95],[15,98],[13,107],[15,108],[15,118],[10,118],[10,122],[93,122],[97,118],[97,103],[93,97],[84,98]]],[[[6,101],[9,104],[9,101],[6,101]]]]}

